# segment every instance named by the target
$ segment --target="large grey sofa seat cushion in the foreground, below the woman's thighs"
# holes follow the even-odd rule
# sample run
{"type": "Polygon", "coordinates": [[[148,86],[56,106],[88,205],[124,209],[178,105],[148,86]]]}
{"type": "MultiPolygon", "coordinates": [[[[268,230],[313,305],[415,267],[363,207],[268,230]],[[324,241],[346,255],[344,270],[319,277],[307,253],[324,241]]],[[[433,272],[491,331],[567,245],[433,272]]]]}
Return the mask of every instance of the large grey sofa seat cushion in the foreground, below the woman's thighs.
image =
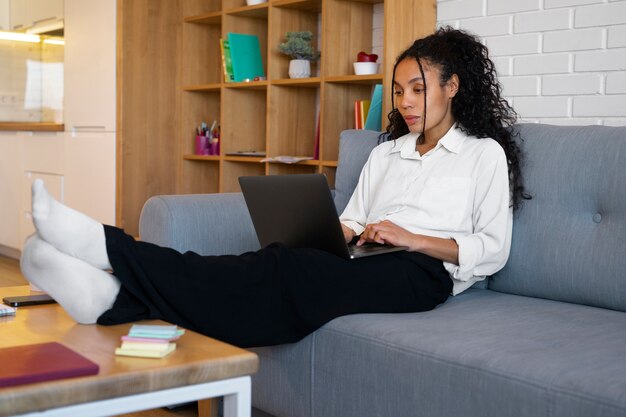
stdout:
{"type": "Polygon", "coordinates": [[[468,290],[426,313],[333,320],[311,378],[312,417],[623,416],[626,315],[468,290]]]}

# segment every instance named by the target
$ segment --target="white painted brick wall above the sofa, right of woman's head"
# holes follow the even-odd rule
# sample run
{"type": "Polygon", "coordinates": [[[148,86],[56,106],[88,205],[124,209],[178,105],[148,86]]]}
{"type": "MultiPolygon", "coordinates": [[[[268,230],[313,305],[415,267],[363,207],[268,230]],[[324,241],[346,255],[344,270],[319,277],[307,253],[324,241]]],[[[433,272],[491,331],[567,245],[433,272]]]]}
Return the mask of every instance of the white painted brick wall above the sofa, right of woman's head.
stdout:
{"type": "Polygon", "coordinates": [[[479,35],[522,121],[626,125],[626,0],[438,0],[479,35]]]}

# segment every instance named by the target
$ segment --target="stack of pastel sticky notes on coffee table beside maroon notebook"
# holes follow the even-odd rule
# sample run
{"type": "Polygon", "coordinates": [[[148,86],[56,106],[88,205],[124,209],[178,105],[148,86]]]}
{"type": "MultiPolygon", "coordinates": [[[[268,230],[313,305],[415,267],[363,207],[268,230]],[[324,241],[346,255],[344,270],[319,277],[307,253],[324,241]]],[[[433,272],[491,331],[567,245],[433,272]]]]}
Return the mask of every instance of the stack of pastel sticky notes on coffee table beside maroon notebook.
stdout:
{"type": "Polygon", "coordinates": [[[122,346],[115,349],[119,356],[140,358],[162,358],[176,349],[175,341],[185,331],[177,326],[140,325],[130,328],[127,336],[122,336],[122,346]]]}

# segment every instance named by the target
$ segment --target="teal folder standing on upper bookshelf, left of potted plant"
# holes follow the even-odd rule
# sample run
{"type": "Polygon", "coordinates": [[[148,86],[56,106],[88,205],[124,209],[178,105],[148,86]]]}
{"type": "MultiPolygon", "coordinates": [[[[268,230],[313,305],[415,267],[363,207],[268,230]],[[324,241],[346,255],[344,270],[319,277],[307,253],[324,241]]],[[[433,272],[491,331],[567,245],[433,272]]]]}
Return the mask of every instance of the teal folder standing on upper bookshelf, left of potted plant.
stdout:
{"type": "Polygon", "coordinates": [[[264,77],[261,46],[256,35],[229,33],[230,58],[235,82],[252,81],[254,77],[264,77]]]}

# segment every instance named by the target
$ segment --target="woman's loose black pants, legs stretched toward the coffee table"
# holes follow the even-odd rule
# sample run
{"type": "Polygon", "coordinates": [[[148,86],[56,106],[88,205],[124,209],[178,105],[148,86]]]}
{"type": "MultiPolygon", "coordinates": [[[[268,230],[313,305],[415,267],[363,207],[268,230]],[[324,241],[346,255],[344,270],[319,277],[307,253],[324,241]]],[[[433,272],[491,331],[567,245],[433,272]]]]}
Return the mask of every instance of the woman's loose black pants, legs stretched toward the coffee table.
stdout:
{"type": "Polygon", "coordinates": [[[99,324],[161,319],[241,347],[296,342],[346,314],[431,310],[452,290],[442,262],[420,253],[345,260],[274,244],[200,256],[105,235],[122,287],[99,324]]]}

